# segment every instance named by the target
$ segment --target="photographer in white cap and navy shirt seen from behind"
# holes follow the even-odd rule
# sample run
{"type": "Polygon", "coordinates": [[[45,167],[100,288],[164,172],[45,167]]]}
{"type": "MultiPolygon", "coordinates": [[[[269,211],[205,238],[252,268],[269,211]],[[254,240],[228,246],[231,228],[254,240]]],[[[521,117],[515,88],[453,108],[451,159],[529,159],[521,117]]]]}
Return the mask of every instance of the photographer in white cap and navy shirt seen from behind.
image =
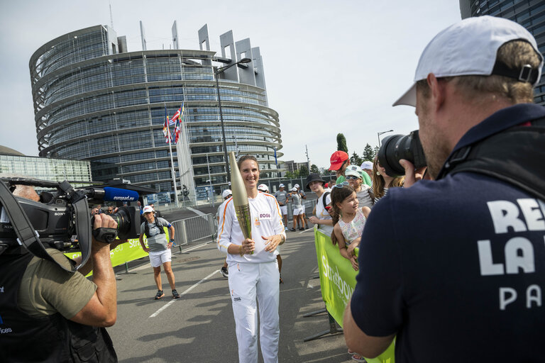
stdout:
{"type": "Polygon", "coordinates": [[[402,161],[405,188],[370,213],[343,320],[351,350],[376,357],[397,336],[397,363],[543,361],[542,67],[534,37],[502,18],[426,46],[395,105],[416,106],[434,180],[402,161]]]}

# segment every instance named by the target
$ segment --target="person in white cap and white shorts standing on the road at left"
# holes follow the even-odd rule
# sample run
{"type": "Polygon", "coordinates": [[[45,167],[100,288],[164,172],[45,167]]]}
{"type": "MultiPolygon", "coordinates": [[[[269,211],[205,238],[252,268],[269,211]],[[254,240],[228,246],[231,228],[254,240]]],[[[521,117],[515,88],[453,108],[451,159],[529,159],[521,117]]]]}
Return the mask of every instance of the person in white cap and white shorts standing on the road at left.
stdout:
{"type": "Polygon", "coordinates": [[[172,267],[170,266],[170,262],[172,261],[170,249],[174,243],[174,226],[163,218],[155,218],[153,215],[155,211],[150,206],[145,206],[142,211],[145,222],[140,226],[140,237],[138,240],[140,241],[142,249],[150,254],[150,263],[151,267],[153,267],[153,279],[155,279],[155,284],[157,284],[155,300],[159,300],[165,296],[163,285],[161,284],[161,264],[163,264],[163,269],[165,269],[170,289],[172,289],[172,298],[180,298],[180,294],[178,294],[175,287],[174,272],[172,272],[172,267]],[[163,227],[168,228],[168,235],[170,237],[170,240],[168,241],[165,234],[165,228],[163,227]],[[148,239],[148,247],[145,247],[144,235],[148,239]]]}

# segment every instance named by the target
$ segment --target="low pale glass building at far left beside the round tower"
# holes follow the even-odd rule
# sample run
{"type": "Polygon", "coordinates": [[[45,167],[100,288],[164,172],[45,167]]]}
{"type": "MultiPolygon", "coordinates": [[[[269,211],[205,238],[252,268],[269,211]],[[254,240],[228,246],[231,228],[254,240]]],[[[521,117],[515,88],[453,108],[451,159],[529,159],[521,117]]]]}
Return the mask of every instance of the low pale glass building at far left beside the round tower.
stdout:
{"type": "Polygon", "coordinates": [[[26,156],[0,146],[0,173],[48,181],[91,181],[88,161],[26,156]]]}

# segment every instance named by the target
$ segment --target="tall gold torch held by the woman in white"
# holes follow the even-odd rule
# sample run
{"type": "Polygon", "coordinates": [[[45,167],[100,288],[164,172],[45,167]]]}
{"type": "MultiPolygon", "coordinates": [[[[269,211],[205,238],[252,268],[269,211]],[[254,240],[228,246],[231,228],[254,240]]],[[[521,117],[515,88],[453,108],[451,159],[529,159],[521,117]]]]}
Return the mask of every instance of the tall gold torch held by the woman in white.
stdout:
{"type": "MultiPolygon", "coordinates": [[[[238,225],[241,226],[244,238],[252,238],[252,216],[248,204],[248,193],[242,180],[241,171],[236,164],[235,153],[229,153],[229,164],[231,164],[231,191],[233,192],[233,206],[235,207],[238,225]]],[[[252,252],[253,254],[253,252],[252,252]]]]}

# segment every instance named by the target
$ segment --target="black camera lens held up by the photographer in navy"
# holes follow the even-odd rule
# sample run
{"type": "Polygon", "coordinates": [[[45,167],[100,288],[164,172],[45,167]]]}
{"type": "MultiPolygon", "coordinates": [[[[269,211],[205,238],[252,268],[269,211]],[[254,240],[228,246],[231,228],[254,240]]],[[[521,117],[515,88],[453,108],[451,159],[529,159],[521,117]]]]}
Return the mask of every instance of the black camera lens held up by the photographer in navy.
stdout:
{"type": "Polygon", "coordinates": [[[412,162],[415,168],[427,165],[418,130],[409,135],[391,135],[382,140],[382,146],[378,150],[378,162],[386,169],[386,174],[390,177],[404,175],[405,169],[400,164],[401,159],[412,162]]]}

